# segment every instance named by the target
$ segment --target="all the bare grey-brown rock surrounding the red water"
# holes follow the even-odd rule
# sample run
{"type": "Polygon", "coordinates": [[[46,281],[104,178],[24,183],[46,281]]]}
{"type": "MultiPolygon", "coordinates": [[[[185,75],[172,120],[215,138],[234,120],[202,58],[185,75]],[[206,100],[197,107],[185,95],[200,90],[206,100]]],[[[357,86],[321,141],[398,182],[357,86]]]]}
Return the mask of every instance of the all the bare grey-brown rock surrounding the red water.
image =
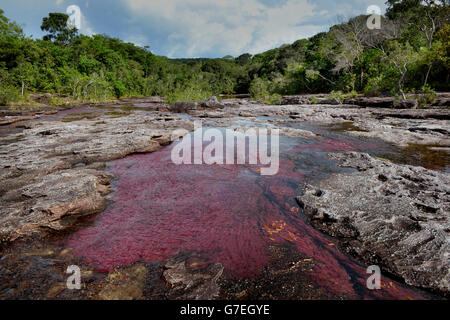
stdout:
{"type": "MultiPolygon", "coordinates": [[[[350,265],[356,268],[351,263],[336,266],[342,272],[337,278],[340,285],[345,283],[345,294],[327,292],[315,278],[317,270],[326,269],[321,254],[304,254],[286,246],[286,241],[307,243],[309,239],[294,239],[290,234],[280,240],[281,244],[269,247],[270,259],[261,275],[240,279],[230,278],[222,264],[211,263],[201,253],[155,263],[124,262],[112,270],[96,270],[59,243],[59,238],[47,238],[64,238],[73,230],[90,226],[97,214],[114,206],[109,194],[114,191],[117,176],[107,169],[110,161],[157,151],[186,134],[186,130],[192,131],[193,120],[200,119],[205,127],[230,127],[238,132],[279,129],[281,136],[325,143],[328,151],[354,150],[349,141],[334,143],[322,137],[323,130],[330,129],[321,131],[316,127],[335,126],[353,139],[379,138],[400,146],[407,159],[423,155],[426,161],[419,164],[441,172],[395,165],[364,154],[334,154],[334,160],[355,172],[333,174],[314,182],[299,201],[312,225],[334,237],[343,251],[362,262],[379,264],[410,285],[448,294],[450,111],[392,110],[373,104],[363,107],[351,101],[342,105],[328,101],[325,95],[321,99],[322,104],[311,105],[311,97],[301,96],[286,100],[283,106],[267,106],[247,99],[212,98],[195,105],[180,102],[175,109],[172,107],[173,113],[158,97],[60,110],[48,106],[33,111],[3,110],[0,240],[4,250],[0,251],[0,278],[9,280],[0,283],[0,298],[423,298],[409,288],[400,294],[398,284],[390,280],[383,282],[383,288],[390,290],[387,293],[357,294],[363,292],[359,286],[365,280],[353,279],[353,288],[347,283],[344,269],[350,265]],[[326,215],[322,217],[323,212],[326,215]],[[22,244],[22,239],[30,242],[22,244]],[[81,291],[65,287],[65,270],[71,264],[82,268],[81,291]]],[[[314,151],[317,146],[313,143],[304,147],[314,151]]],[[[298,148],[297,152],[303,150],[298,148]]],[[[266,192],[276,194],[275,185],[279,187],[279,183],[275,181],[266,192]]],[[[280,194],[285,189],[281,188],[280,194]]],[[[298,194],[292,194],[288,210],[302,215],[292,207],[298,194]]],[[[267,232],[277,231],[266,228],[267,232]]],[[[333,256],[330,250],[334,247],[325,246],[327,257],[333,256]]]]}

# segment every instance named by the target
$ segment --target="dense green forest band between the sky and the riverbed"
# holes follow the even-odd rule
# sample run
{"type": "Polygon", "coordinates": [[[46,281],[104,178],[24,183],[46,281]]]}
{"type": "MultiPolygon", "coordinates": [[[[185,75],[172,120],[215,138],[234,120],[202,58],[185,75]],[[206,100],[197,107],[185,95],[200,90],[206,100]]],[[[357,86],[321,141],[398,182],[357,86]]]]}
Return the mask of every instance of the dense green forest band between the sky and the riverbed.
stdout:
{"type": "Polygon", "coordinates": [[[42,40],[27,37],[0,10],[0,104],[31,92],[102,101],[133,95],[199,100],[250,93],[266,102],[298,93],[367,95],[449,91],[448,1],[389,0],[381,29],[368,16],[252,56],[175,59],[106,35],[88,37],[51,13],[42,40]]]}

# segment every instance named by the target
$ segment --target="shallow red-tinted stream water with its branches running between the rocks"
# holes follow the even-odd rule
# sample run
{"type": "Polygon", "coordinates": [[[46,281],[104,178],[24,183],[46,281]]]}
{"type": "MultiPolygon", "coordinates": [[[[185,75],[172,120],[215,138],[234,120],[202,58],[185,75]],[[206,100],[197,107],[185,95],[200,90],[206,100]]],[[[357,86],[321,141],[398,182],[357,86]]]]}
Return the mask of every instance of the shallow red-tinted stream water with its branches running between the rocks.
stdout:
{"type": "Polygon", "coordinates": [[[261,176],[260,167],[250,165],[177,166],[171,161],[173,145],[114,161],[114,204],[70,236],[66,246],[99,271],[195,252],[222,263],[228,278],[239,279],[259,276],[270,259],[269,247],[285,245],[314,262],[309,277],[330,296],[421,299],[388,278],[383,290],[368,290],[366,267],[305,222],[295,202],[303,185],[348,170],[336,167],[327,152],[390,151],[380,142],[321,132],[316,139],[281,137],[275,176],[261,176]]]}

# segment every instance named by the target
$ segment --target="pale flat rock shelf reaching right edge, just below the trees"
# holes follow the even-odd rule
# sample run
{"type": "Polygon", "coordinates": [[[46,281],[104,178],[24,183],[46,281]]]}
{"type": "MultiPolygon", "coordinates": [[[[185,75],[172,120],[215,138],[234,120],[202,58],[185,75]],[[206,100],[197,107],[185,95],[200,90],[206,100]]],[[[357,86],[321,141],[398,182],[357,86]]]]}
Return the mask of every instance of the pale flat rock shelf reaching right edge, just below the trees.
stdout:
{"type": "MultiPolygon", "coordinates": [[[[234,111],[234,112],[233,112],[234,111]]],[[[237,110],[233,110],[236,113],[237,110]]],[[[351,121],[357,130],[350,134],[378,138],[406,147],[409,144],[449,146],[450,110],[359,108],[348,105],[244,106],[240,114],[254,117],[287,117],[291,123],[336,124],[351,121]]],[[[238,113],[238,114],[239,114],[238,113]]],[[[270,119],[268,119],[270,121],[270,119]]],[[[285,122],[274,119],[273,122],[285,122]]]]}

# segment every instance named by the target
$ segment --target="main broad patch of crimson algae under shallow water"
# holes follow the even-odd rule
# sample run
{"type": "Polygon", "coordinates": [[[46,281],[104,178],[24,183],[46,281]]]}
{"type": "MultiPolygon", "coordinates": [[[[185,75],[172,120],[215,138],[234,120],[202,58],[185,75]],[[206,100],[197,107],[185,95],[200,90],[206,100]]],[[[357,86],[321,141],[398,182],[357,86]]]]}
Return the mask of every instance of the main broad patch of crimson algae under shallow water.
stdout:
{"type": "Polygon", "coordinates": [[[247,277],[268,261],[263,218],[279,208],[262,196],[257,168],[176,166],[166,149],[119,160],[112,172],[121,177],[114,206],[69,242],[88,263],[111,269],[195,250],[247,277]]]}

